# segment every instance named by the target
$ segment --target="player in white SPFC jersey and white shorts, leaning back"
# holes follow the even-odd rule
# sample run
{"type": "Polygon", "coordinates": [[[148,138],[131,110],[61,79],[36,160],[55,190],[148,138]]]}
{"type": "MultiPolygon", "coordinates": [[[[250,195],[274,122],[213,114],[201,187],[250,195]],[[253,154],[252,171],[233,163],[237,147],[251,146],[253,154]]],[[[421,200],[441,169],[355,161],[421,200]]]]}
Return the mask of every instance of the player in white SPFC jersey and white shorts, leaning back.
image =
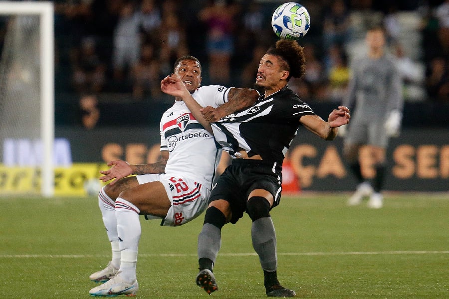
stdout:
{"type": "MultiPolygon", "coordinates": [[[[200,88],[201,64],[193,56],[179,58],[174,74],[202,105],[223,105],[218,114],[250,106],[259,95],[252,89],[200,88]]],[[[161,225],[178,226],[195,219],[207,207],[220,156],[214,137],[180,98],[163,114],[160,132],[160,161],[130,165],[114,160],[108,163],[112,166],[109,170],[101,171],[103,182],[115,178],[98,196],[112,259],[105,269],[90,276],[92,281],[104,283],[90,290],[93,296],[136,295],[139,215],[162,219],[161,225]]]]}

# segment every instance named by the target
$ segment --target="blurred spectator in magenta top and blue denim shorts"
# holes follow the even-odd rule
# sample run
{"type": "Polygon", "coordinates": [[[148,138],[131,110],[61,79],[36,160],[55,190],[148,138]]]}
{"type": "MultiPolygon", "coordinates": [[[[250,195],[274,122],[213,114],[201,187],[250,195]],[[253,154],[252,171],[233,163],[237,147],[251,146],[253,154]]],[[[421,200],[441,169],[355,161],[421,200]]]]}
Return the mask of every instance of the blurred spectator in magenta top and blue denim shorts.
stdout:
{"type": "Polygon", "coordinates": [[[199,12],[199,19],[208,25],[206,47],[209,60],[209,79],[215,84],[228,85],[230,59],[234,53],[232,35],[235,6],[225,0],[210,0],[199,12]]]}

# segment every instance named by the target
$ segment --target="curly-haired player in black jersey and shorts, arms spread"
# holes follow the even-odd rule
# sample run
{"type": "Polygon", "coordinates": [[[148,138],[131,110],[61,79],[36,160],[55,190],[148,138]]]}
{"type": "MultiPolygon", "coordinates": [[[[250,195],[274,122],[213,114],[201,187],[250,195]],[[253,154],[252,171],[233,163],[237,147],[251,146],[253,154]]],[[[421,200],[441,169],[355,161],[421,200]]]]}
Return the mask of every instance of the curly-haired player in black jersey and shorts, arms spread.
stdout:
{"type": "Polygon", "coordinates": [[[294,297],[277,279],[276,234],[270,210],[279,204],[282,161],[298,127],[305,126],[325,140],[349,123],[349,110],[339,106],[328,121],[315,115],[287,85],[304,74],[304,52],[296,41],[279,40],[260,59],[256,86],[265,93],[243,111],[223,117],[216,109],[202,108],[176,76],[162,80],[161,89],[179,96],[217,144],[234,157],[212,190],[203,229],[198,238],[200,273],[197,284],[208,294],[218,290],[212,272],[221,246],[221,229],[247,213],[251,239],[264,273],[268,297],[294,297]]]}

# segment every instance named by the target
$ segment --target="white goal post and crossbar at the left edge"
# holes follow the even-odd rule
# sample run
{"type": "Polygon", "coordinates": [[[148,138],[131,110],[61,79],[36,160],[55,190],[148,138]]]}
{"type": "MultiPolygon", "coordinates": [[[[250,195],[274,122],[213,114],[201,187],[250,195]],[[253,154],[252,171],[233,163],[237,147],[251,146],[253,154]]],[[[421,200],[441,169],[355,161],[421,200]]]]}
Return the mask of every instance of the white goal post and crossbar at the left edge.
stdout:
{"type": "MultiPolygon", "coordinates": [[[[0,1],[0,16],[39,16],[40,193],[54,194],[54,8],[51,1],[0,1]]],[[[4,48],[7,45],[4,45],[4,48]]],[[[32,80],[32,79],[31,79],[32,80]]],[[[1,103],[0,103],[1,104],[1,103]]],[[[1,108],[1,107],[0,107],[1,108]]],[[[1,120],[0,120],[1,126],[1,120]]],[[[4,138],[0,136],[0,138],[4,138]]]]}

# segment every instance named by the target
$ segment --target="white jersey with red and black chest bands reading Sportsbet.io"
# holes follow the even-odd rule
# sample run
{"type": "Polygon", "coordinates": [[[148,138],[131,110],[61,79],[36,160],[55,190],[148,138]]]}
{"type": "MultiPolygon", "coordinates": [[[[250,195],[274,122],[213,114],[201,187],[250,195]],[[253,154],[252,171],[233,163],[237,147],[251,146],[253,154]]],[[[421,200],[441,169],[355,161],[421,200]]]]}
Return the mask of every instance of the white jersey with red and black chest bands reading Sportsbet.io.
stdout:
{"type": "MultiPolygon", "coordinates": [[[[227,102],[229,88],[219,85],[200,87],[192,96],[203,107],[217,108],[227,102]]],[[[165,173],[181,174],[211,188],[220,161],[212,136],[195,119],[183,101],[176,101],[161,118],[161,151],[169,150],[165,173]]]]}

